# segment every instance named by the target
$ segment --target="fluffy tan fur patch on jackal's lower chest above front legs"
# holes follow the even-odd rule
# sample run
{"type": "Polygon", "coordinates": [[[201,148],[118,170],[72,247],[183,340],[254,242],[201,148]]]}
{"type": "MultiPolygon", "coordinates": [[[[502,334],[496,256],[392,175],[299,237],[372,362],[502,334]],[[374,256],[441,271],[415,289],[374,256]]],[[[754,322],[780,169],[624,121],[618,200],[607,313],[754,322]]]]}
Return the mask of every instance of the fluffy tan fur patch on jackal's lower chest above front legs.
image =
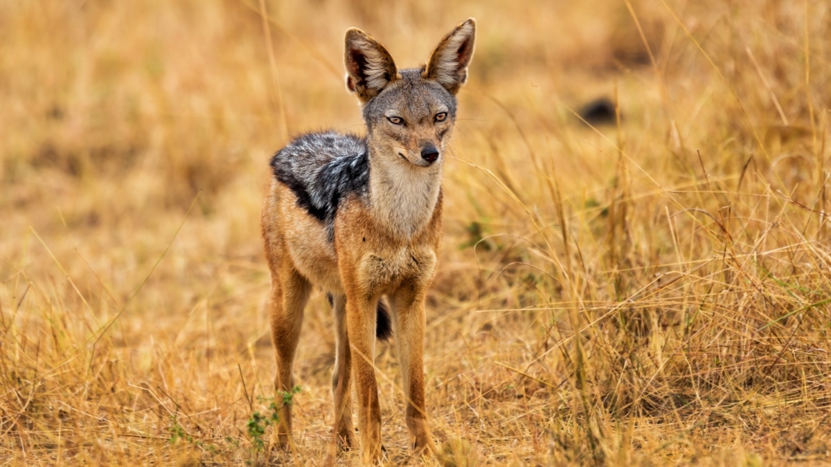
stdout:
{"type": "Polygon", "coordinates": [[[435,264],[435,252],[427,245],[382,248],[364,254],[357,273],[368,292],[388,293],[409,282],[429,283],[435,264]]]}

